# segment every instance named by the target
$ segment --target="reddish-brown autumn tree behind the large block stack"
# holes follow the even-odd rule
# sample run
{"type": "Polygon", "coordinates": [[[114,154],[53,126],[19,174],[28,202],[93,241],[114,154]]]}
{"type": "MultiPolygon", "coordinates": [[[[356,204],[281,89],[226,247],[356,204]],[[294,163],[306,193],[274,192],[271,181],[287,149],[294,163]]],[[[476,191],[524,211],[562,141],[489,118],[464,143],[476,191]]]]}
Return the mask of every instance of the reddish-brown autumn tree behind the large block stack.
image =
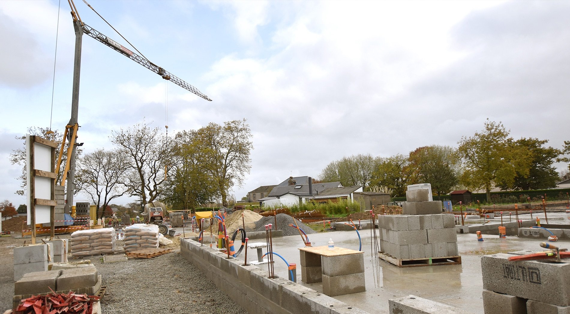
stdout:
{"type": "Polygon", "coordinates": [[[424,146],[410,152],[410,162],[417,167],[418,181],[431,184],[437,195],[447,194],[459,183],[459,159],[450,146],[424,146]]]}

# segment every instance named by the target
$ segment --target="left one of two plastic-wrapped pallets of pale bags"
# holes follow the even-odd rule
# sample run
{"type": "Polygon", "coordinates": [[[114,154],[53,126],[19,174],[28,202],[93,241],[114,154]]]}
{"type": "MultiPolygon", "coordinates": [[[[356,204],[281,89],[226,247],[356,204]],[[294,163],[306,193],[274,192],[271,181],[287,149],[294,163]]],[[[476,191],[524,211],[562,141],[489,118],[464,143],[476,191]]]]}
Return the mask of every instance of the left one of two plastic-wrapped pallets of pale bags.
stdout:
{"type": "Polygon", "coordinates": [[[115,229],[79,230],[71,234],[71,255],[84,256],[113,253],[115,229]]]}

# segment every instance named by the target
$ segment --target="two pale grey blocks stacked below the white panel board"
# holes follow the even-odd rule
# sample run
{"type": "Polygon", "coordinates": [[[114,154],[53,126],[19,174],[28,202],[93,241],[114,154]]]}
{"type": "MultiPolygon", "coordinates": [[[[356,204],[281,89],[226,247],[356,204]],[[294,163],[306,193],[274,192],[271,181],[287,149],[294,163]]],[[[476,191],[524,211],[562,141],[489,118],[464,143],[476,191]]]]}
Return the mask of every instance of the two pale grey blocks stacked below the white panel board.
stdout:
{"type": "Polygon", "coordinates": [[[46,271],[48,263],[54,260],[52,243],[20,246],[14,248],[14,281],[25,274],[46,271]]]}

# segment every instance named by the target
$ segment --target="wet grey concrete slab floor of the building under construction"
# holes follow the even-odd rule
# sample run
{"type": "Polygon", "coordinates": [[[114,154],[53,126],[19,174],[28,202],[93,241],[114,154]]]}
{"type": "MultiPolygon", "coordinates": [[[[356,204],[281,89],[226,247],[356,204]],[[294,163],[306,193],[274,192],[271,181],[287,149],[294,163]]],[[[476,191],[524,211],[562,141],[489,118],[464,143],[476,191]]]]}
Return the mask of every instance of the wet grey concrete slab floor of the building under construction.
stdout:
{"type": "MultiPolygon", "coordinates": [[[[533,213],[533,216],[536,215],[533,213]]],[[[568,224],[565,213],[548,213],[551,224],[568,224]],[[564,222],[563,222],[564,221],[564,222]]],[[[530,215],[529,215],[530,218],[530,215]]],[[[544,214],[541,215],[541,220],[544,214]]],[[[496,219],[495,219],[496,220],[496,219]]],[[[498,235],[483,235],[483,242],[477,241],[476,234],[457,234],[459,255],[462,265],[422,266],[399,268],[390,263],[372,258],[370,249],[370,229],[360,230],[364,251],[366,292],[335,296],[345,303],[355,305],[370,313],[389,313],[388,299],[417,295],[467,311],[483,314],[483,280],[481,257],[495,253],[508,253],[518,250],[540,250],[540,242],[546,239],[528,239],[509,236],[500,239],[498,235]]],[[[376,229],[376,234],[378,230],[376,229]]],[[[335,246],[359,249],[359,239],[355,231],[339,231],[309,234],[312,246],[327,245],[329,238],[335,246]]],[[[570,241],[560,240],[556,244],[570,249],[570,241]]],[[[298,282],[314,290],[323,291],[321,283],[305,284],[300,281],[301,267],[299,247],[303,247],[300,235],[274,238],[274,252],[282,255],[289,263],[297,264],[298,282]]],[[[243,259],[243,252],[239,258],[243,259]]],[[[248,259],[257,259],[255,250],[248,251],[248,259]]],[[[261,267],[267,270],[267,266],[261,267]]],[[[286,264],[275,256],[275,274],[287,278],[286,264]]]]}

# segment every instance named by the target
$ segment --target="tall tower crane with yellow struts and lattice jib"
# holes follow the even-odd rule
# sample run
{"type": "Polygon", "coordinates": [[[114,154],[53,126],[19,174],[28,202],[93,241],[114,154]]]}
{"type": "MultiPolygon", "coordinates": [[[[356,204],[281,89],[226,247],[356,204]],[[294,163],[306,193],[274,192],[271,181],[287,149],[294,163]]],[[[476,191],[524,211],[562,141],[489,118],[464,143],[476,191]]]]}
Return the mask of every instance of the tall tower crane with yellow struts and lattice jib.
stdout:
{"type": "MultiPolygon", "coordinates": [[[[58,156],[58,163],[56,166],[56,172],[59,171],[59,166],[62,160],[63,148],[66,143],[66,138],[68,141],[68,149],[67,149],[67,162],[66,167],[63,172],[63,180],[62,185],[66,182],[67,177],[67,203],[66,203],[66,212],[70,212],[71,206],[73,205],[73,191],[75,188],[75,159],[76,159],[76,147],[78,146],[75,143],[75,139],[77,137],[77,131],[79,128],[78,125],[78,111],[79,111],[79,77],[80,77],[80,69],[81,69],[81,48],[82,48],[82,39],[83,34],[87,34],[88,36],[98,40],[99,42],[105,44],[108,47],[115,49],[117,52],[120,52],[122,55],[128,57],[129,59],[143,65],[143,67],[149,69],[150,71],[157,73],[162,77],[162,79],[172,81],[174,84],[181,86],[182,88],[189,90],[190,92],[204,98],[207,101],[211,101],[209,97],[205,94],[200,92],[194,86],[188,84],[187,82],[179,79],[177,76],[174,76],[172,73],[166,71],[165,69],[158,67],[158,65],[150,62],[144,56],[137,55],[136,53],[132,52],[131,50],[125,48],[121,44],[115,42],[108,36],[101,34],[101,32],[95,30],[94,28],[88,26],[87,24],[83,23],[81,20],[77,8],[75,7],[75,3],[73,0],[67,0],[70,7],[71,7],[71,16],[73,17],[74,28],[75,28],[75,56],[74,56],[74,75],[73,75],[73,88],[72,88],[72,96],[71,96],[71,118],[70,121],[67,123],[66,130],[64,131],[62,147],[59,150],[58,156]]],[[[89,7],[91,7],[85,0],[83,0],[89,7]]],[[[91,9],[93,9],[91,7],[91,9]]],[[[93,11],[95,11],[93,9],[93,11]]],[[[97,13],[98,15],[98,13],[97,13]]],[[[101,17],[102,18],[102,17],[101,17]]],[[[106,21],[105,21],[106,22],[106,21]]]]}

